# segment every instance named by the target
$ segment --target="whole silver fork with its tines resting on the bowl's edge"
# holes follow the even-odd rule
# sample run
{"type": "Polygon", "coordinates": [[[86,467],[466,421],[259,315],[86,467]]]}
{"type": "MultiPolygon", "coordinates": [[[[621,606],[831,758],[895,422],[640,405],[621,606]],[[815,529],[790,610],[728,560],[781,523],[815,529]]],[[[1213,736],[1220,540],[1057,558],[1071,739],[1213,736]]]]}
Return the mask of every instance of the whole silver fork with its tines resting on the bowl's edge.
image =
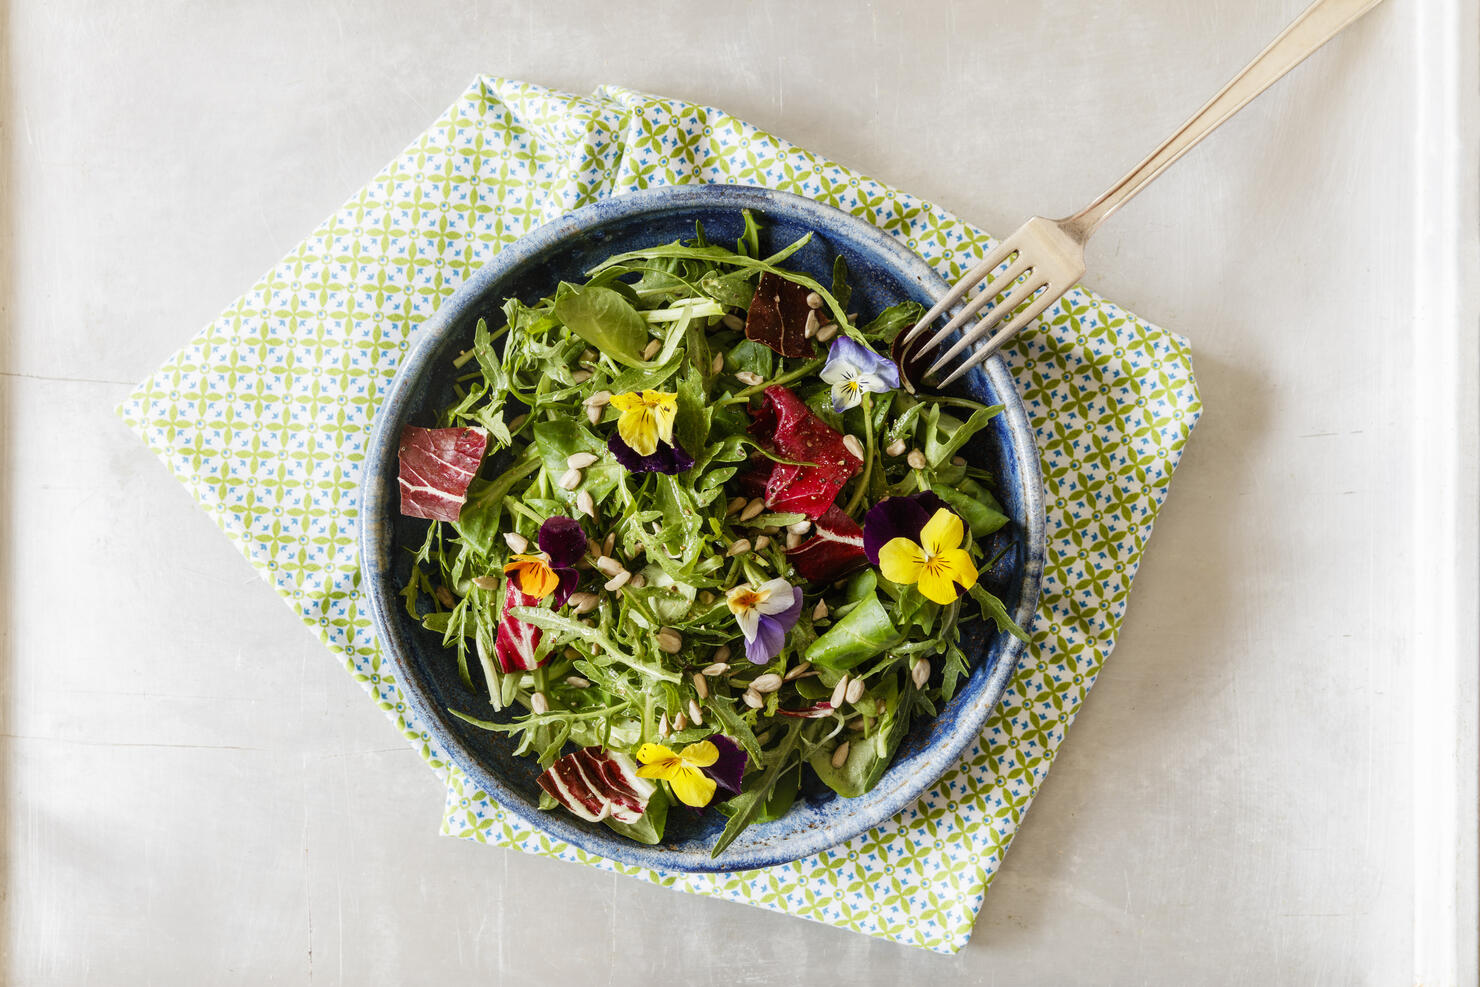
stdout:
{"type": "Polygon", "coordinates": [[[1259,52],[1258,58],[1234,75],[1233,81],[1194,112],[1177,133],[1151,151],[1125,178],[1106,189],[1100,198],[1067,219],[1033,216],[1018,226],[1017,232],[987,253],[946,293],[946,297],[925,314],[925,318],[904,334],[903,342],[895,348],[901,368],[906,361],[919,361],[925,354],[940,348],[952,333],[966,326],[983,308],[992,305],[975,326],[963,331],[961,339],[931,364],[924,376],[937,373],[961,351],[975,346],[990,333],[992,337],[975,346],[975,351],[938,386],[944,388],[987,360],[1079,281],[1085,272],[1085,241],[1100,228],[1100,223],[1132,195],[1150,185],[1151,179],[1165,172],[1172,161],[1212,133],[1218,124],[1277,83],[1285,73],[1299,65],[1305,56],[1381,1],[1316,0],[1268,47],[1259,52]],[[998,272],[998,268],[1003,265],[1006,265],[1005,269],[998,272]],[[924,343],[915,345],[915,340],[943,312],[977,286],[983,286],[981,290],[946,323],[944,329],[924,343]]]}

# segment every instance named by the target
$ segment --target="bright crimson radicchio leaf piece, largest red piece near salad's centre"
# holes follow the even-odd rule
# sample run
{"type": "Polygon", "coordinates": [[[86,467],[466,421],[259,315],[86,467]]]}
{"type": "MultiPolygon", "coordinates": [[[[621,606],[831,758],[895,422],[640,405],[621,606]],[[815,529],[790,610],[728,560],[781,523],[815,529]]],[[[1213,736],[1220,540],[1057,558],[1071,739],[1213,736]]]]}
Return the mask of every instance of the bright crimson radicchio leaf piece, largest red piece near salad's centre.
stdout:
{"type": "Polygon", "coordinates": [[[795,511],[817,519],[838,499],[842,485],[863,469],[863,460],[842,444],[842,434],[780,385],[765,389],[765,400],[755,413],[750,434],[770,442],[786,459],[815,463],[771,465],[771,476],[765,482],[765,505],[773,511],[795,511]]]}

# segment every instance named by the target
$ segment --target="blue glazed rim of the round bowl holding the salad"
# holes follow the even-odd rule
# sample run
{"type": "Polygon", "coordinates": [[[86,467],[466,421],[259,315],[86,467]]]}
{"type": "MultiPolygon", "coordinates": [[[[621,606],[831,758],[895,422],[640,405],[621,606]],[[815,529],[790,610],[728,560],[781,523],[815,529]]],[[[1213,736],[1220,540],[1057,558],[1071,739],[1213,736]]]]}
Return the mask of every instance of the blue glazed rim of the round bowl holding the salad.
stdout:
{"type": "MultiPolygon", "coordinates": [[[[419,676],[413,675],[414,663],[408,657],[410,650],[392,617],[398,611],[400,595],[392,586],[394,567],[389,549],[391,531],[400,512],[398,508],[388,503],[391,497],[385,494],[388,487],[383,482],[385,471],[394,469],[397,463],[398,438],[389,435],[389,431],[391,425],[404,416],[406,404],[414,395],[413,382],[420,380],[429,370],[428,364],[441,348],[443,336],[462,320],[469,308],[485,297],[490,284],[542,253],[558,249],[562,241],[623,219],[691,207],[786,212],[808,222],[815,229],[841,226],[845,228],[848,240],[861,241],[889,257],[898,274],[916,281],[928,294],[940,297],[947,290],[940,274],[892,235],[858,216],[793,192],[749,185],[663,185],[605,197],[565,213],[499,250],[414,330],[419,339],[414,340],[395,368],[395,376],[386,386],[370,426],[358,490],[357,545],[360,574],[367,592],[374,638],[386,660],[397,670],[397,688],[414,710],[416,718],[437,734],[437,743],[447,756],[500,808],[554,839],[617,863],[670,873],[743,872],[815,855],[909,809],[929,786],[935,784],[961,759],[966,747],[980,738],[987,718],[1002,701],[1002,694],[1026,653],[1026,645],[1015,638],[1008,638],[1008,647],[992,667],[977,701],[956,713],[952,732],[943,737],[944,743],[926,750],[922,764],[885,792],[887,798],[881,796],[860,806],[860,811],[847,815],[844,824],[796,830],[774,843],[730,846],[719,857],[696,858],[694,854],[665,854],[666,848],[662,843],[648,846],[619,833],[604,832],[598,835],[593,830],[577,827],[573,820],[527,805],[522,798],[509,792],[503,780],[488,771],[468,749],[451,728],[445,712],[438,707],[419,676]],[[665,860],[665,857],[672,857],[672,860],[665,860]]],[[[1030,629],[1037,610],[1046,546],[1043,485],[1033,429],[1000,355],[993,355],[984,366],[974,368],[971,374],[986,374],[999,401],[1005,405],[1002,414],[1008,423],[1014,459],[1021,471],[1027,521],[1023,531],[1023,574],[1018,585],[1018,604],[1012,616],[1018,626],[1030,629]]],[[[972,676],[978,673],[980,667],[972,669],[972,676]]]]}

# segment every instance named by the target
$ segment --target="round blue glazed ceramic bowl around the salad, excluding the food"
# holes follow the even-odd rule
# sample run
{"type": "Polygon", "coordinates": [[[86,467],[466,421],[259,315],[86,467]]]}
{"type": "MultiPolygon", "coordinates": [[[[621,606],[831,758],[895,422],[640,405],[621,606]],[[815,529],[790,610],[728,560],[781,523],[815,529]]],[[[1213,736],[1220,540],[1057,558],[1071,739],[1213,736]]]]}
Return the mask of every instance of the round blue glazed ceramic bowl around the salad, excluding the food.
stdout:
{"type": "MultiPolygon", "coordinates": [[[[824,283],[833,257],[848,262],[851,309],[869,320],[881,309],[912,297],[925,305],[946,292],[946,283],[925,260],[864,220],[808,198],[761,188],[682,185],[650,188],[608,198],[542,226],[499,253],[474,274],[414,336],[414,345],[385,395],[367,447],[360,500],[360,564],[369,592],[376,636],[395,667],[406,700],[426,730],[472,781],[508,811],[551,836],[626,864],[678,872],[749,870],[807,857],[848,841],[909,808],[926,787],[956,764],[977,740],[987,715],[1002,698],[1023,645],[980,621],[968,624],[962,645],[974,669],[941,715],[918,722],[900,744],[879,784],[857,799],[810,792],[783,818],[747,829],[724,854],[709,851],[724,827],[719,812],[702,817],[670,812],[667,841],[645,846],[568,812],[542,812],[539,768],[533,758],[515,758],[509,740],[448,715],[448,707],[488,716],[487,698],[469,693],[440,636],[407,617],[398,596],[410,553],[425,536],[425,521],[398,513],[397,437],[406,425],[431,425],[435,408],[450,397],[451,358],[471,346],[474,326],[502,321],[508,296],[534,302],[561,280],[580,280],[605,257],[694,235],[694,222],[715,243],[733,243],[741,232],[740,210],[749,209],[764,229],[762,252],[805,232],[813,241],[787,260],[824,283]]],[[[1002,561],[987,577],[1017,621],[1027,626],[1037,604],[1043,568],[1043,505],[1033,434],[1000,358],[965,379],[974,398],[1006,410],[980,432],[966,454],[996,475],[998,496],[1012,522],[999,534],[995,553],[1002,561]]],[[[990,555],[989,555],[990,556],[990,555]]]]}

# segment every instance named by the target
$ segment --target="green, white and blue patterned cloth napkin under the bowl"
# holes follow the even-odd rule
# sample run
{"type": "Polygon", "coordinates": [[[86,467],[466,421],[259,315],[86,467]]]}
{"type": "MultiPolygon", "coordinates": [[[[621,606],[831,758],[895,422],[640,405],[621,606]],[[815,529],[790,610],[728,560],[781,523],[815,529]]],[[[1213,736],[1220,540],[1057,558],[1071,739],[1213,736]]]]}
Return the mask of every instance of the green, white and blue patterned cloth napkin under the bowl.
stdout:
{"type": "Polygon", "coordinates": [[[931,203],[719,110],[484,78],[120,414],[445,778],[444,833],[953,953],[1110,654],[1197,420],[1181,337],[1076,289],[1008,351],[1046,487],[1035,647],[959,767],[888,824],[818,857],[681,875],[555,842],[451,765],[376,648],[355,552],[361,444],[419,326],[521,234],[602,195],[681,182],[767,185],[838,206],[947,281],[992,243],[931,203]]]}

